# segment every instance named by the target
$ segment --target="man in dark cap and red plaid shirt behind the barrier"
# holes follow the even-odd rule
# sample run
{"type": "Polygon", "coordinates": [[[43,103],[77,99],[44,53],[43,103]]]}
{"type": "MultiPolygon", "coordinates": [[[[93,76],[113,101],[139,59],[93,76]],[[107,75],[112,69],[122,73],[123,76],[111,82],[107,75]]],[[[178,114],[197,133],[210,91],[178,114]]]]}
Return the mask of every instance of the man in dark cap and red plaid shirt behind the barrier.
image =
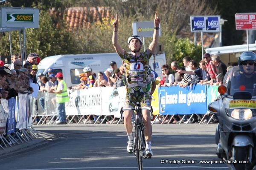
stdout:
{"type": "Polygon", "coordinates": [[[213,85],[213,83],[218,82],[217,80],[217,71],[216,71],[216,67],[214,64],[212,64],[212,58],[211,55],[209,53],[205,53],[204,56],[204,61],[205,61],[205,66],[207,69],[207,73],[209,74],[209,76],[211,77],[211,82],[210,85],[213,85]]]}

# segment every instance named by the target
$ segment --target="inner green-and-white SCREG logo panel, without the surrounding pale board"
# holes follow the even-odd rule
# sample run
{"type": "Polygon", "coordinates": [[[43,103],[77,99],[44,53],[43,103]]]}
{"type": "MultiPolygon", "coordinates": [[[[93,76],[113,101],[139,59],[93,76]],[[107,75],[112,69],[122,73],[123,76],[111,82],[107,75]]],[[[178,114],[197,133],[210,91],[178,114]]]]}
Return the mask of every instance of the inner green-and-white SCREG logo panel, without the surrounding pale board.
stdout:
{"type": "Polygon", "coordinates": [[[6,22],[34,22],[34,14],[6,13],[6,22]]]}

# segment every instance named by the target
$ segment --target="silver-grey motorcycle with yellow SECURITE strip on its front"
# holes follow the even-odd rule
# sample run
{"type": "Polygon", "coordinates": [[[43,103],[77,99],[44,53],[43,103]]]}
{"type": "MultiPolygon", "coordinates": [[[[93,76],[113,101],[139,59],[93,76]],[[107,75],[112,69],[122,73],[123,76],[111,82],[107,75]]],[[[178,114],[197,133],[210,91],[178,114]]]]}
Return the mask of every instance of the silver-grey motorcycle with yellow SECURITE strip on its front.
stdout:
{"type": "Polygon", "coordinates": [[[220,96],[208,105],[219,120],[216,154],[231,170],[252,170],[256,165],[256,79],[242,82],[242,74],[241,65],[227,71],[218,87],[220,96]]]}

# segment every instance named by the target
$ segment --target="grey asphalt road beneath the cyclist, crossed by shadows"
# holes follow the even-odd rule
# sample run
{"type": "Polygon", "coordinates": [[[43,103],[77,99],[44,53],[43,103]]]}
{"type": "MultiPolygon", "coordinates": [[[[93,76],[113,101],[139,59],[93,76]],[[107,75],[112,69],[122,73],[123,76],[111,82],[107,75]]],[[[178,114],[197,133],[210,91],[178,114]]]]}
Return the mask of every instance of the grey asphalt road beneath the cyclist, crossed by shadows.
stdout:
{"type": "MultiPolygon", "coordinates": [[[[153,157],[144,169],[228,169],[215,154],[217,124],[153,125],[153,157]],[[174,163],[172,162],[174,161],[174,163]],[[189,162],[190,161],[190,162],[189,162]]],[[[0,170],[130,170],[136,157],[126,151],[123,125],[36,125],[40,133],[53,134],[46,142],[0,156],[0,170]]]]}

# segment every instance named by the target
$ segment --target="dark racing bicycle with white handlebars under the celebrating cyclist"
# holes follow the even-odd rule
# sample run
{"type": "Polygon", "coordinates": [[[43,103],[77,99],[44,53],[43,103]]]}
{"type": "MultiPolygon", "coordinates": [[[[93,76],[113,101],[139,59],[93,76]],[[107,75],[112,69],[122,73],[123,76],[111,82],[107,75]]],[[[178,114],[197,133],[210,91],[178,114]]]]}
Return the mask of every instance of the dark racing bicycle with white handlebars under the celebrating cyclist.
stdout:
{"type": "Polygon", "coordinates": [[[151,156],[145,156],[145,147],[146,140],[144,135],[144,122],[142,117],[142,110],[148,109],[152,111],[152,107],[140,107],[140,103],[136,102],[134,108],[121,108],[121,118],[123,111],[134,111],[135,113],[135,121],[134,121],[134,154],[137,158],[138,170],[143,170],[143,158],[150,159],[151,156]]]}

